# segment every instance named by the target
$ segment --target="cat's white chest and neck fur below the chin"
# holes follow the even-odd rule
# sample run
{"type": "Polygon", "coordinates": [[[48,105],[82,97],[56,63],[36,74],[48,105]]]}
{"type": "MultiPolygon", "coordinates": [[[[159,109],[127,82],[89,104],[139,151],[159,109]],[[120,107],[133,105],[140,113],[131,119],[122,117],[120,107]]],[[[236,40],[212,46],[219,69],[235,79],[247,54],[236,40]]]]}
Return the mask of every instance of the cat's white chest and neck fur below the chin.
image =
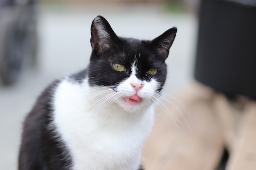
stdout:
{"type": "Polygon", "coordinates": [[[112,104],[118,109],[95,114],[81,93],[81,87],[63,83],[54,100],[54,124],[72,157],[72,170],[137,170],[153,106],[136,115],[112,104]]]}

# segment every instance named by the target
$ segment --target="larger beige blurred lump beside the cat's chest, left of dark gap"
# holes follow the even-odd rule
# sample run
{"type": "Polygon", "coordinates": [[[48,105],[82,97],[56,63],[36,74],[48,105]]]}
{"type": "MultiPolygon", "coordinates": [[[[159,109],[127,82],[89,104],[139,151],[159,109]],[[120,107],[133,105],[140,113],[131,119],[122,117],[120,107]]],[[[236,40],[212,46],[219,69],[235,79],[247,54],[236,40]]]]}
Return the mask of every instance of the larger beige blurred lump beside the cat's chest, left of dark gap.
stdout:
{"type": "Polygon", "coordinates": [[[224,143],[211,106],[213,94],[209,88],[194,83],[177,95],[178,101],[166,103],[180,130],[163,109],[157,110],[155,127],[143,153],[146,170],[213,170],[216,167],[224,143]]]}

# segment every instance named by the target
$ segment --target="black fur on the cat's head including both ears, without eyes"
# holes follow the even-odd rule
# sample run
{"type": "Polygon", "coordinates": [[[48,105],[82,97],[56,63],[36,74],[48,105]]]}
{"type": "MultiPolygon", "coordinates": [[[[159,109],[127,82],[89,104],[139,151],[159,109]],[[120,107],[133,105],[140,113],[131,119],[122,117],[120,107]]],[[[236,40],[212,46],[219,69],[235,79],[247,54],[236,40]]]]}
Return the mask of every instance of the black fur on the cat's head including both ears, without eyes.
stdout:
{"type": "Polygon", "coordinates": [[[120,81],[126,79],[131,73],[132,63],[136,61],[137,77],[141,80],[150,81],[155,78],[161,83],[158,89],[161,91],[166,80],[166,64],[169,49],[173,44],[177,29],[175,27],[167,30],[152,41],[141,41],[131,38],[117,37],[110,24],[102,16],[98,16],[92,22],[92,55],[90,58],[88,76],[92,86],[116,86],[120,81]],[[97,29],[100,27],[101,30],[97,29]],[[102,28],[104,30],[102,31],[102,28]],[[100,31],[105,33],[102,36],[100,31]],[[112,63],[123,64],[127,71],[117,72],[112,63]],[[157,68],[156,75],[146,74],[146,71],[157,68]],[[111,75],[111,76],[110,76],[111,75]]]}

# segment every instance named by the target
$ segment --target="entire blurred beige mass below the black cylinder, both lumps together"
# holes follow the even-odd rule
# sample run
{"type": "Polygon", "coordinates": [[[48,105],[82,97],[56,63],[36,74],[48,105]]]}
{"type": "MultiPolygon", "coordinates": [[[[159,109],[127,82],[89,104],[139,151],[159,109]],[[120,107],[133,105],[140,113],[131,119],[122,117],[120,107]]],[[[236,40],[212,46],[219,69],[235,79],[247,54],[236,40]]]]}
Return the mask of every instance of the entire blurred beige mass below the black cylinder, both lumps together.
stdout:
{"type": "Polygon", "coordinates": [[[231,102],[196,82],[176,98],[165,103],[169,111],[156,110],[143,152],[146,170],[215,170],[225,147],[230,153],[227,170],[255,169],[255,102],[231,102]]]}

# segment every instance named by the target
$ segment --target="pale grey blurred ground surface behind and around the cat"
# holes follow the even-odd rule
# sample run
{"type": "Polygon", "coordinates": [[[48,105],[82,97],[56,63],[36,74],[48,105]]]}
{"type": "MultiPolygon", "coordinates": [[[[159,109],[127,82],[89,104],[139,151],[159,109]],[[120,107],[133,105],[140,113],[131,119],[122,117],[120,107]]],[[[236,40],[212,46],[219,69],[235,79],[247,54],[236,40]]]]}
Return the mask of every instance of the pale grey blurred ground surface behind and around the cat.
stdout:
{"type": "Polygon", "coordinates": [[[88,65],[90,25],[103,15],[117,35],[153,39],[172,26],[177,37],[171,47],[166,93],[175,93],[192,78],[197,20],[189,14],[166,13],[157,6],[41,7],[38,67],[25,70],[17,84],[0,86],[0,170],[16,170],[22,121],[36,97],[54,79],[88,65]]]}

